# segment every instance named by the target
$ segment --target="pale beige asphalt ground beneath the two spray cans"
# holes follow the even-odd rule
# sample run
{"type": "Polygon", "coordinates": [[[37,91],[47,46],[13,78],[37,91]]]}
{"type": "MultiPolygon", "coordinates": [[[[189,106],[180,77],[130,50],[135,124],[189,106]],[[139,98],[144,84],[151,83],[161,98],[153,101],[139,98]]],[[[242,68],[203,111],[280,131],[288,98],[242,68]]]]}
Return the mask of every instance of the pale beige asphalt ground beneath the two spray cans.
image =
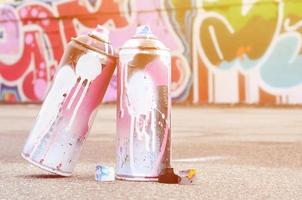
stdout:
{"type": "Polygon", "coordinates": [[[114,166],[115,107],[102,106],[74,175],[20,156],[39,105],[0,105],[0,199],[302,199],[302,109],[173,107],[172,166],[194,185],[96,182],[114,166]]]}

